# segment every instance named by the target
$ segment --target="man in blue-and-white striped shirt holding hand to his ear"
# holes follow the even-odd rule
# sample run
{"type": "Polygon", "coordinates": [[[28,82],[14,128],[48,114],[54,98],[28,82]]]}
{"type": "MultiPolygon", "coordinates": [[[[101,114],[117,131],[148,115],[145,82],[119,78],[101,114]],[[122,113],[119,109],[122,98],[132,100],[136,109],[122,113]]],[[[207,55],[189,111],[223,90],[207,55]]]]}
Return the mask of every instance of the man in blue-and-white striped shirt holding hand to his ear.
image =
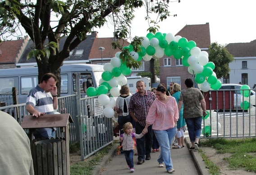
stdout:
{"type": "MultiPolygon", "coordinates": [[[[26,109],[32,116],[39,117],[44,114],[54,114],[58,108],[57,77],[52,73],[42,76],[40,84],[29,91],[26,109]]],[[[37,128],[32,134],[38,138],[55,138],[55,128],[37,128]]]]}

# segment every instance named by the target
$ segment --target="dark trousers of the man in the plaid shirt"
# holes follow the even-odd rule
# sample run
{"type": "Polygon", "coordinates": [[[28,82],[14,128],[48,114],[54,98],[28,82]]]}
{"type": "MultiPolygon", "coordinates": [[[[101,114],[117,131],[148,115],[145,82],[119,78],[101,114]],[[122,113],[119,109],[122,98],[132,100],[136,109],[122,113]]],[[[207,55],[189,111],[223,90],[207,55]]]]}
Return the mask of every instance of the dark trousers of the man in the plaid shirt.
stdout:
{"type": "MultiPolygon", "coordinates": [[[[141,134],[144,126],[138,122],[135,123],[136,134],[141,134]]],[[[145,155],[150,156],[153,144],[153,130],[152,125],[148,126],[147,133],[142,138],[136,139],[138,160],[145,160],[145,155]]]]}

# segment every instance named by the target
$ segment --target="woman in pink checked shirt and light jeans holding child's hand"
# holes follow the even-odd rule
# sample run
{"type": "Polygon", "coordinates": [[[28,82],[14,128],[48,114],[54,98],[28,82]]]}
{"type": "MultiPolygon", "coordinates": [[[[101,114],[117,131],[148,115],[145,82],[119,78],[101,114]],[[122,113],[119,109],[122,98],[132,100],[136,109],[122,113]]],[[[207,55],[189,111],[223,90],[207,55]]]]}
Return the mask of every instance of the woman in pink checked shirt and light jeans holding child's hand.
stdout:
{"type": "Polygon", "coordinates": [[[147,132],[147,127],[152,125],[155,136],[161,147],[161,154],[157,159],[159,167],[164,167],[169,173],[174,172],[171,159],[172,141],[177,133],[177,121],[179,118],[178,105],[172,96],[167,96],[168,91],[164,86],[156,88],[156,97],[148,115],[146,117],[146,126],[142,133],[147,132]]]}

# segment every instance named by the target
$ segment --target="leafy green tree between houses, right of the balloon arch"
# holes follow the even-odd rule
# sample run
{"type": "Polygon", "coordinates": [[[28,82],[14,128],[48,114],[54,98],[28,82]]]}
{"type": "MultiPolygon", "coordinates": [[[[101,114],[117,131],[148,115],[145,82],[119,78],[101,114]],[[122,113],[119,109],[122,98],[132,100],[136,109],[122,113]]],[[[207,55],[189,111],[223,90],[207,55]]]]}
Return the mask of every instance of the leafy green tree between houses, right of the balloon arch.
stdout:
{"type": "Polygon", "coordinates": [[[212,43],[209,47],[209,61],[215,64],[214,72],[217,78],[225,77],[229,74],[229,63],[234,60],[234,57],[229,54],[229,51],[224,46],[218,43],[212,43]]]}

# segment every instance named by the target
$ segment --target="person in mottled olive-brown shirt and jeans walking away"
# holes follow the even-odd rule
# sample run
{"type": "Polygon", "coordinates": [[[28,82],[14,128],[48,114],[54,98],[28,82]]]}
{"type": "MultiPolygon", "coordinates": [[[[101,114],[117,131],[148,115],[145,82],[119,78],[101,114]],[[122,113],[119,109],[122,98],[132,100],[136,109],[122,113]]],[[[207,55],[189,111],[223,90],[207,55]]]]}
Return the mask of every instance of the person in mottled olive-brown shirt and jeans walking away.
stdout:
{"type": "Polygon", "coordinates": [[[187,124],[189,139],[191,141],[190,150],[198,150],[199,139],[201,138],[202,116],[206,115],[206,102],[203,94],[197,88],[193,88],[193,81],[188,78],[185,80],[186,89],[181,91],[178,110],[183,108],[183,118],[187,124]]]}

